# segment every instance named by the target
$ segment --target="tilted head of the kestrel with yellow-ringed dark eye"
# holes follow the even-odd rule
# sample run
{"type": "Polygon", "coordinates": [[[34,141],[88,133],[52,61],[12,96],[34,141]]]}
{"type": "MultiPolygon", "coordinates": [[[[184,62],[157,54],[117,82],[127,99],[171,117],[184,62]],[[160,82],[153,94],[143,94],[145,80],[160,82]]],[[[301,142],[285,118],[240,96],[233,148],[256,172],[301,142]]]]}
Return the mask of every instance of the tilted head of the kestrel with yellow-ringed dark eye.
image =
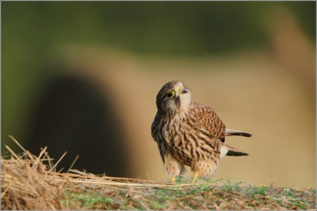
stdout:
{"type": "Polygon", "coordinates": [[[163,112],[187,111],[192,93],[180,81],[167,82],[156,96],[156,107],[163,112]]]}

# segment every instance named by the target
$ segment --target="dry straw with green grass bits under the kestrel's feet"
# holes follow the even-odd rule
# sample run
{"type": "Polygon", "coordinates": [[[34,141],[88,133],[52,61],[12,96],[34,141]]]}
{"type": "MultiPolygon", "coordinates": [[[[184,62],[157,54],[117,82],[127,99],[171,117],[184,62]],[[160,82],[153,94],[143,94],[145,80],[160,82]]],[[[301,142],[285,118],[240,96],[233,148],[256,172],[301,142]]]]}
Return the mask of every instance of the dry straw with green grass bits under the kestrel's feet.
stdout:
{"type": "MultiPolygon", "coordinates": [[[[12,140],[14,140],[12,138],[12,140]]],[[[19,143],[14,140],[18,145],[19,143]]],[[[23,147],[20,146],[22,149],[23,147]]],[[[1,210],[315,210],[316,190],[57,173],[46,148],[1,157],[1,210]]]]}

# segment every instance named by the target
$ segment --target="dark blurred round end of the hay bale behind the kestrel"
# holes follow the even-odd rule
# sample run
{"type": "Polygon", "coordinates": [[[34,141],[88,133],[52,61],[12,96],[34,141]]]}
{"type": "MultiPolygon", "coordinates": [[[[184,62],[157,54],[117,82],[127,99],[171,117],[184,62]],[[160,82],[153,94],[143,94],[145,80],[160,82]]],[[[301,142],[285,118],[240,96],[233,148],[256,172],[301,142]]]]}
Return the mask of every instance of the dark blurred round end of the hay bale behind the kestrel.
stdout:
{"type": "Polygon", "coordinates": [[[28,149],[39,155],[48,146],[55,162],[68,151],[58,169],[126,177],[127,156],[119,121],[105,95],[92,82],[53,76],[31,115],[28,149]]]}

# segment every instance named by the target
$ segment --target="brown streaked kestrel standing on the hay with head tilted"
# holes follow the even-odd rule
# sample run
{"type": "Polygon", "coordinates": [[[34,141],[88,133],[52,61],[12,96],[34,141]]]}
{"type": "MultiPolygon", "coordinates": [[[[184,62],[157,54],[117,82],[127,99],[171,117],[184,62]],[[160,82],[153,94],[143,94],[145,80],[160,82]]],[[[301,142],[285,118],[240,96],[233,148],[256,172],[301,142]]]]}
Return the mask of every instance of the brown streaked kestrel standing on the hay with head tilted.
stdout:
{"type": "Polygon", "coordinates": [[[152,137],[172,181],[184,165],[190,166],[195,181],[214,175],[225,155],[248,155],[225,144],[225,136],[252,135],[227,129],[213,109],[192,101],[191,91],[182,82],[167,82],[156,96],[156,107],[152,137]]]}

